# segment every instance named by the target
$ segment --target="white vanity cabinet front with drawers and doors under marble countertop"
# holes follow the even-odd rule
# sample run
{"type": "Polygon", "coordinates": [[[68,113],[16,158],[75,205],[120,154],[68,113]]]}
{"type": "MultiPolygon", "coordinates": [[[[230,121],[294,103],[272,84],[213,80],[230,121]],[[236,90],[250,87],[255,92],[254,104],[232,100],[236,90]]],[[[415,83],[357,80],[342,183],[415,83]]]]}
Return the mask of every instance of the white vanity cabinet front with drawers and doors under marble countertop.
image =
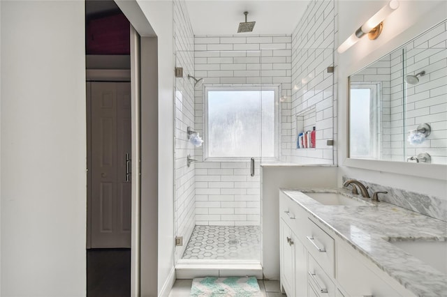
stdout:
{"type": "Polygon", "coordinates": [[[287,296],[413,296],[283,192],[279,211],[287,296]]]}

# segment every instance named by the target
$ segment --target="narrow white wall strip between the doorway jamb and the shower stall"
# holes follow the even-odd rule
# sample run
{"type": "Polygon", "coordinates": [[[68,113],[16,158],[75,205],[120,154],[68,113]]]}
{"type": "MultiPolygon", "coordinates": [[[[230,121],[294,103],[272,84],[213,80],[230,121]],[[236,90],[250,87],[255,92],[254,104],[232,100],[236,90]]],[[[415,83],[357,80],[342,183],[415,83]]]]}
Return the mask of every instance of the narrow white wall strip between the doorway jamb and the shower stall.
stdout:
{"type": "MultiPolygon", "coordinates": [[[[158,294],[174,280],[174,43],[173,1],[137,0],[158,38],[159,68],[159,169],[158,169],[158,294]]],[[[144,82],[142,82],[143,84],[144,82]]],[[[155,99],[154,99],[155,100],[155,99]]],[[[145,116],[142,114],[142,116],[145,116]]],[[[154,139],[157,141],[157,139],[154,139]]],[[[143,148],[144,149],[144,148],[143,148]]],[[[142,151],[144,154],[144,151],[142,151]]],[[[142,180],[142,183],[145,181],[142,180]]],[[[142,210],[145,211],[145,210],[142,210]]],[[[150,211],[150,210],[147,210],[150,211]]],[[[142,227],[143,228],[143,227],[142,227]]],[[[154,244],[154,243],[153,243],[154,244]]],[[[141,253],[153,252],[142,250],[141,253]]],[[[142,296],[154,288],[144,287],[142,296]],[[147,291],[145,291],[147,289],[147,291]]]]}

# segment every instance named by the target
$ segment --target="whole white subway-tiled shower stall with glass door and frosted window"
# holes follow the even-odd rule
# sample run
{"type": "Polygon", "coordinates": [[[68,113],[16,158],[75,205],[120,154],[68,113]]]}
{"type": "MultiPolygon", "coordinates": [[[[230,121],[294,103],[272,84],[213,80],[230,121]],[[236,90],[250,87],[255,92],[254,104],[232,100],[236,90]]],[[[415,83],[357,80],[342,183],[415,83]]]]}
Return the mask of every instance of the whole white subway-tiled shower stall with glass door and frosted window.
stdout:
{"type": "Polygon", "coordinates": [[[276,232],[263,225],[263,201],[274,198],[262,195],[262,166],[336,159],[334,40],[307,40],[301,26],[292,35],[194,36],[182,5],[175,1],[176,268],[236,264],[262,275],[263,259],[274,257],[263,255],[263,232],[276,232]],[[298,146],[314,128],[315,146],[298,146]]]}

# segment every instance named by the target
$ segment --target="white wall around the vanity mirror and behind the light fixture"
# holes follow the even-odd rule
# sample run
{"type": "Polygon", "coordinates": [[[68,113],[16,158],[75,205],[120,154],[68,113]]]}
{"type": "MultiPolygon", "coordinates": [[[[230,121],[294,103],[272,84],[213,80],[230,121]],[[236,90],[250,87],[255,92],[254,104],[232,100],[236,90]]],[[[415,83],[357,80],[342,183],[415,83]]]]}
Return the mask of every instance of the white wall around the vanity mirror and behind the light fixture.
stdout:
{"type": "MultiPolygon", "coordinates": [[[[341,44],[386,3],[388,1],[337,1],[339,11],[338,44],[341,44]]],[[[443,21],[446,18],[446,6],[446,1],[400,1],[400,8],[385,20],[383,31],[378,39],[371,41],[362,38],[343,54],[336,54],[336,69],[339,75],[338,161],[339,165],[342,165],[339,170],[340,185],[341,176],[347,175],[382,185],[446,198],[445,174],[438,176],[438,178],[444,178],[443,180],[417,176],[418,169],[413,169],[414,167],[406,174],[393,174],[379,171],[380,169],[372,171],[343,165],[346,159],[347,77],[443,21]]],[[[406,163],[397,162],[393,163],[393,167],[407,168],[406,163]]]]}

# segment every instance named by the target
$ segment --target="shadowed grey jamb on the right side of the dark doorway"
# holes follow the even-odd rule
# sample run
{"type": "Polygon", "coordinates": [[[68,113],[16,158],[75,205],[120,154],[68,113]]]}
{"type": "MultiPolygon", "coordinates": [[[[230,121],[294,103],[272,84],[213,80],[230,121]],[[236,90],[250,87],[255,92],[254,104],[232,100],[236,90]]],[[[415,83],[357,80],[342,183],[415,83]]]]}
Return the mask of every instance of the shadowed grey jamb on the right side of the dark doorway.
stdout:
{"type": "Polygon", "coordinates": [[[158,38],[138,0],[114,1],[131,23],[131,296],[157,296],[159,142],[154,139],[159,139],[158,38]],[[141,114],[145,117],[142,118],[141,114]],[[143,157],[142,148],[145,149],[143,157]],[[141,211],[143,208],[144,213],[141,211]],[[141,250],[145,253],[142,254],[141,250]],[[145,281],[141,282],[141,279],[145,281]]]}

